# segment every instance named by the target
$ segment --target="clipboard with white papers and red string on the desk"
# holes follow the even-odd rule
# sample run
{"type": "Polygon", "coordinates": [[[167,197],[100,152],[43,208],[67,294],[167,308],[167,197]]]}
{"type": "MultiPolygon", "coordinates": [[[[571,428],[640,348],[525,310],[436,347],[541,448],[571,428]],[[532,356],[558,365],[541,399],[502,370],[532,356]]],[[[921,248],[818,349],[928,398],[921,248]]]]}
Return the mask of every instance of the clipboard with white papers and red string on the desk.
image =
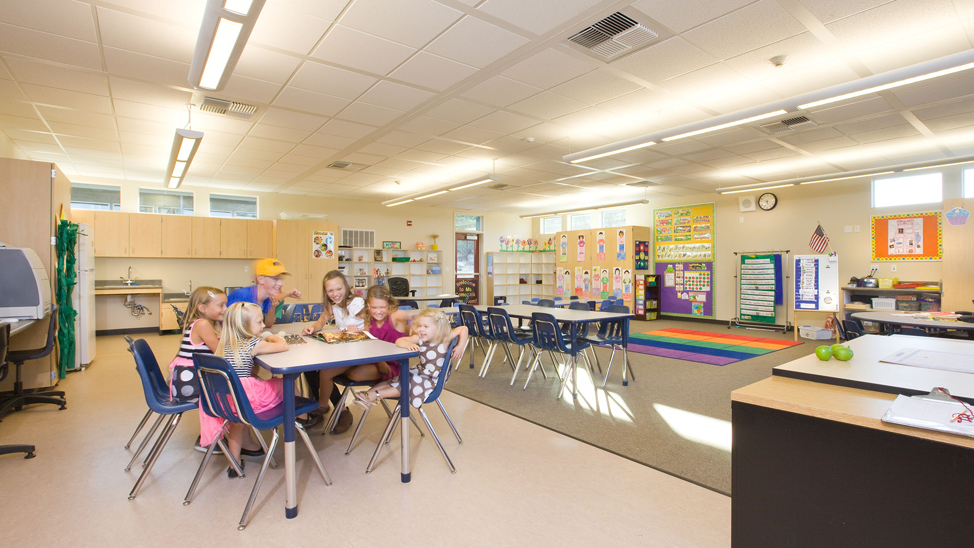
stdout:
{"type": "Polygon", "coordinates": [[[952,420],[957,413],[965,411],[970,410],[955,400],[946,388],[935,387],[929,394],[920,396],[900,394],[880,420],[974,438],[974,422],[952,420]]]}

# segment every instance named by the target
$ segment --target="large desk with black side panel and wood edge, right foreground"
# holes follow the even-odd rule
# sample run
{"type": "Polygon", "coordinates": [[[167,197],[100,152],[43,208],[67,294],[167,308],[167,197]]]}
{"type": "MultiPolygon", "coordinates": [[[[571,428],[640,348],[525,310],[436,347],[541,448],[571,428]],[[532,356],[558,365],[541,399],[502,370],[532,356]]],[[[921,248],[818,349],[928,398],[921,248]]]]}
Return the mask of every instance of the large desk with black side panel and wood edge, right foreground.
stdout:
{"type": "Polygon", "coordinates": [[[805,356],[731,393],[731,546],[930,546],[974,536],[974,438],[882,422],[897,394],[970,402],[974,374],[880,363],[974,342],[868,334],[848,362],[805,356]],[[935,531],[935,532],[931,532],[935,531]]]}

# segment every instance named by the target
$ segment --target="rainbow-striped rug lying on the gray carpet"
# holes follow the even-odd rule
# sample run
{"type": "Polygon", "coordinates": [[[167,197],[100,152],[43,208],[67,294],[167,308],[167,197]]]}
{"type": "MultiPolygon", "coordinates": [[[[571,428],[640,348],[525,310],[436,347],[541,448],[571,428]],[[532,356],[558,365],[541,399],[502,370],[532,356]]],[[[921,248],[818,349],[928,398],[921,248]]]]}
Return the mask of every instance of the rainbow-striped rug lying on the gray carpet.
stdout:
{"type": "Polygon", "coordinates": [[[669,328],[629,335],[629,351],[726,366],[802,344],[791,340],[669,328]]]}

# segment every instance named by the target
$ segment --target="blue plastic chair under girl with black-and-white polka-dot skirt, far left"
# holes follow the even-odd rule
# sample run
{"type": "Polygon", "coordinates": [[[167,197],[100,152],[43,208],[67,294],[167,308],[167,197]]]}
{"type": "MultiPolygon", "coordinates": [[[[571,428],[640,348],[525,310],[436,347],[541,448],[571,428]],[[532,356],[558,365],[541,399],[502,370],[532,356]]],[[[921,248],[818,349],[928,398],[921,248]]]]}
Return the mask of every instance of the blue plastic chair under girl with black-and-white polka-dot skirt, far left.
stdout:
{"type": "Polygon", "coordinates": [[[145,403],[149,406],[150,411],[159,413],[159,420],[156,421],[153,429],[146,434],[142,445],[135,450],[135,454],[132,455],[131,461],[129,461],[129,466],[126,467],[126,471],[131,469],[131,465],[138,458],[139,453],[145,448],[146,443],[155,434],[156,429],[163,420],[166,420],[166,426],[163,428],[163,432],[159,435],[159,439],[156,440],[155,445],[152,446],[152,450],[149,451],[149,455],[142,464],[144,469],[141,475],[139,475],[138,480],[135,481],[135,485],[129,492],[129,500],[132,500],[138,494],[139,489],[142,488],[142,484],[149,477],[149,472],[152,471],[156,460],[159,459],[160,453],[166,449],[169,438],[172,437],[176,426],[179,425],[179,419],[182,418],[182,413],[197,409],[197,404],[193,402],[169,401],[169,385],[166,382],[166,377],[163,376],[162,370],[159,369],[159,362],[156,361],[156,355],[152,353],[152,348],[149,347],[149,343],[145,339],[133,340],[130,344],[130,349],[132,355],[135,357],[135,371],[138,372],[138,377],[142,380],[142,393],[145,395],[145,403]]]}

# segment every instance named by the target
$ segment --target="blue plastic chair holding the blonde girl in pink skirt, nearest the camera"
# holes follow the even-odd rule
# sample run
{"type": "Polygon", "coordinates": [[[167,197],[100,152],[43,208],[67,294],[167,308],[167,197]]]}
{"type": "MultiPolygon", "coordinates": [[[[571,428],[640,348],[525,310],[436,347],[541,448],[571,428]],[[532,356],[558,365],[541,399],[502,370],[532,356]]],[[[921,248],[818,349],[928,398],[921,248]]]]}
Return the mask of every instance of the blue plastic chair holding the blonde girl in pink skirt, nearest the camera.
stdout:
{"type": "MultiPolygon", "coordinates": [[[[267,471],[268,465],[273,460],[272,455],[274,449],[278,446],[278,440],[281,437],[278,434],[278,426],[281,426],[284,421],[284,405],[279,404],[272,410],[261,411],[260,413],[254,412],[253,408],[250,407],[250,401],[246,397],[244,392],[244,385],[241,384],[241,379],[237,376],[237,372],[234,372],[230,364],[227,363],[225,359],[220,356],[214,356],[212,354],[194,354],[193,355],[193,366],[196,369],[197,376],[200,379],[200,390],[201,390],[201,409],[211,416],[215,416],[223,419],[223,424],[226,425],[229,422],[235,422],[239,424],[250,425],[257,430],[273,430],[274,437],[271,439],[271,445],[265,446],[264,451],[266,456],[264,456],[264,462],[260,467],[260,474],[257,475],[257,480],[253,484],[253,489],[250,491],[250,498],[247,499],[246,506],[244,507],[244,515],[241,517],[240,524],[237,526],[238,529],[243,530],[247,524],[247,517],[250,514],[250,508],[253,506],[254,500],[257,498],[257,493],[260,490],[261,480],[264,479],[264,473],[267,471]]],[[[300,396],[295,396],[294,413],[295,415],[304,414],[310,411],[315,411],[318,409],[318,402],[315,400],[310,400],[308,398],[302,398],[300,396]]],[[[318,473],[321,475],[321,479],[324,480],[325,485],[331,485],[331,479],[328,478],[328,473],[324,471],[324,466],[321,464],[321,459],[318,458],[318,451],[315,450],[315,446],[312,445],[311,439],[308,437],[308,433],[305,432],[304,426],[295,422],[294,426],[297,428],[298,433],[301,434],[301,438],[305,442],[305,446],[311,452],[312,458],[315,460],[316,466],[318,466],[318,473]]],[[[200,463],[200,468],[196,472],[196,477],[193,478],[193,484],[190,486],[189,491],[186,493],[186,498],[183,500],[183,504],[189,504],[193,500],[193,494],[196,491],[197,486],[200,483],[200,478],[203,476],[204,470],[206,470],[206,463],[209,462],[209,457],[213,453],[213,449],[219,444],[223,449],[224,453],[231,460],[231,465],[237,470],[237,474],[243,478],[244,472],[236,462],[234,462],[233,457],[230,456],[229,450],[224,446],[223,440],[221,438],[216,438],[213,443],[209,445],[206,449],[206,454],[203,457],[203,461],[200,463]]],[[[261,446],[264,446],[263,438],[261,438],[261,446]]]]}

